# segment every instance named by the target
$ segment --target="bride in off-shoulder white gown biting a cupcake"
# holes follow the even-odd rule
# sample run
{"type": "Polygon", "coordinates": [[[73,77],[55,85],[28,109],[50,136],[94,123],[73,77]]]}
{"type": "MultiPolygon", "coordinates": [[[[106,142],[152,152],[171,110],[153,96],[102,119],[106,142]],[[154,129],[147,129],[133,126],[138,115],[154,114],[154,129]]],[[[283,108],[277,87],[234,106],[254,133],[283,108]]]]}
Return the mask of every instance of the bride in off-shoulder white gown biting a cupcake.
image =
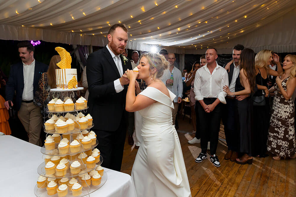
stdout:
{"type": "Polygon", "coordinates": [[[143,118],[143,141],[131,173],[137,196],[191,196],[180,141],[172,125],[176,95],[159,79],[168,62],[157,53],[144,53],[137,67],[139,73],[126,71],[130,80],[126,110],[139,111],[143,118]],[[143,92],[136,79],[144,79],[148,85],[143,92]]]}

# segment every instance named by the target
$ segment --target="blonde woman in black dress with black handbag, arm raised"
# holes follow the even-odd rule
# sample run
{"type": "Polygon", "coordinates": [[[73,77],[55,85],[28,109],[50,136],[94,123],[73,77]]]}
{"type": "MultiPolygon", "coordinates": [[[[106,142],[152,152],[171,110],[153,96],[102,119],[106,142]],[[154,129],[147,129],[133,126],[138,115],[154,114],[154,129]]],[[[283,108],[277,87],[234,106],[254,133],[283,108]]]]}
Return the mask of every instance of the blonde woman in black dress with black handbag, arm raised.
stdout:
{"type": "MultiPolygon", "coordinates": [[[[258,106],[253,105],[253,123],[254,123],[254,151],[255,157],[266,157],[266,142],[269,126],[269,99],[268,99],[268,76],[279,76],[283,71],[281,64],[279,63],[279,56],[273,54],[270,50],[262,50],[255,56],[255,69],[256,69],[256,84],[258,90],[254,93],[254,96],[265,96],[265,104],[258,106]],[[269,68],[270,62],[274,60],[278,66],[278,71],[274,71],[269,68]]],[[[254,104],[254,103],[253,103],[254,104]]]]}

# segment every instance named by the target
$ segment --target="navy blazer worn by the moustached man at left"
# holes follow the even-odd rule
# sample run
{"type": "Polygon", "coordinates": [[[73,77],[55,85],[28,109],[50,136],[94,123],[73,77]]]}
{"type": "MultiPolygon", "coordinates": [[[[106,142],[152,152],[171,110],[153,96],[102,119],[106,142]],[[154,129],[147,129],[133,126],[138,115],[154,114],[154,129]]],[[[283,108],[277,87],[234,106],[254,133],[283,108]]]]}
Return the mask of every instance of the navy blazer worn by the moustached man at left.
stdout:
{"type": "MultiPolygon", "coordinates": [[[[34,70],[34,81],[33,81],[33,93],[35,95],[36,89],[38,88],[38,81],[41,74],[47,72],[48,66],[35,60],[34,70]]],[[[13,96],[16,93],[15,101],[13,106],[15,110],[20,110],[22,103],[22,92],[24,90],[24,69],[22,62],[13,64],[10,67],[9,78],[6,84],[6,100],[13,100],[13,96]]]]}

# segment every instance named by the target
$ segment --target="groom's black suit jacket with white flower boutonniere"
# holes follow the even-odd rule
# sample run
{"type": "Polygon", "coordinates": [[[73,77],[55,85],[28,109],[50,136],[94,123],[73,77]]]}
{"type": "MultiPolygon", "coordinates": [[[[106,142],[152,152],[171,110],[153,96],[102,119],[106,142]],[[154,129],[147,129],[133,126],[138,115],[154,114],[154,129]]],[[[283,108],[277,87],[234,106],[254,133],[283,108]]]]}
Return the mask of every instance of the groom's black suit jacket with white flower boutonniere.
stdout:
{"type": "MultiPolygon", "coordinates": [[[[125,64],[120,55],[123,73],[132,69],[131,61],[125,64]]],[[[126,92],[116,93],[114,81],[120,78],[116,64],[107,47],[95,51],[87,58],[87,83],[89,86],[88,112],[94,119],[94,129],[115,131],[120,126],[122,115],[126,106],[126,92]]]]}

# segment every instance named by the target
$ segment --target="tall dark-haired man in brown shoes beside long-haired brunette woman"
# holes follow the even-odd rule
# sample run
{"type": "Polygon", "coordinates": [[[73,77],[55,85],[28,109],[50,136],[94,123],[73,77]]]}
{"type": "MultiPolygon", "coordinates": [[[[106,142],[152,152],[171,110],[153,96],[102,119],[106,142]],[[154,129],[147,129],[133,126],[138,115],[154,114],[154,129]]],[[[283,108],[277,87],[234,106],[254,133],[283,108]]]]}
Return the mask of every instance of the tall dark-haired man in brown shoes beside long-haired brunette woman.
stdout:
{"type": "MultiPolygon", "coordinates": [[[[231,92],[235,90],[235,82],[237,76],[239,75],[240,67],[239,67],[239,58],[240,54],[244,50],[244,46],[237,44],[233,47],[232,50],[232,61],[233,63],[229,66],[228,72],[228,82],[229,82],[229,89],[231,92]]],[[[227,63],[229,64],[229,63],[227,63]]],[[[226,67],[225,64],[223,67],[226,67]]],[[[224,156],[224,159],[234,162],[238,158],[238,131],[236,126],[236,119],[235,119],[235,97],[227,95],[225,97],[226,105],[222,105],[222,122],[224,125],[224,133],[226,144],[228,146],[228,150],[224,156]]]]}

